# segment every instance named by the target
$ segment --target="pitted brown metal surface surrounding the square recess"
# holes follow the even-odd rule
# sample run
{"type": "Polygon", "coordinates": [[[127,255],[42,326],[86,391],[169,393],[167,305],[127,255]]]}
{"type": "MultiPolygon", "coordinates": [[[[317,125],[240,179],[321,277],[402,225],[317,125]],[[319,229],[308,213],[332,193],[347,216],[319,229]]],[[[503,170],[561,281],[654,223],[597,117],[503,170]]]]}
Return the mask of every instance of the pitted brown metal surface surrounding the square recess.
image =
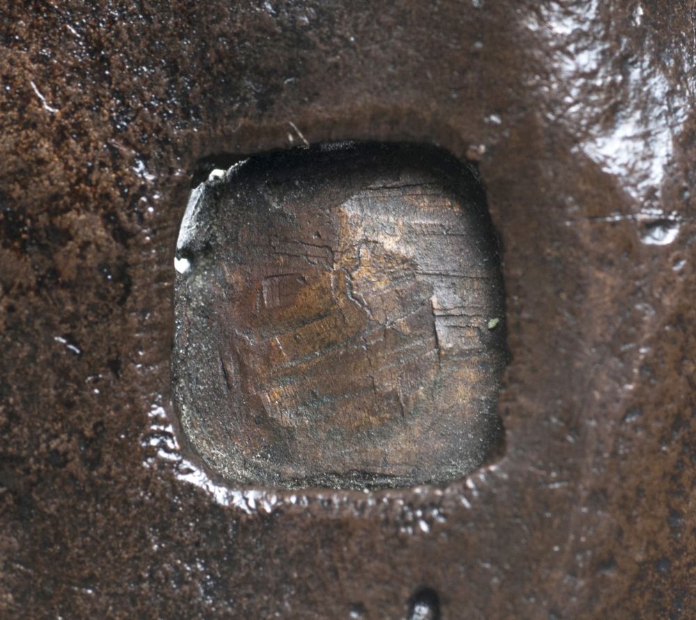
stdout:
{"type": "Polygon", "coordinates": [[[402,618],[429,587],[448,620],[694,617],[693,1],[0,6],[0,615],[402,618]],[[496,465],[224,506],[143,464],[196,161],[293,125],[480,160],[496,465]]]}

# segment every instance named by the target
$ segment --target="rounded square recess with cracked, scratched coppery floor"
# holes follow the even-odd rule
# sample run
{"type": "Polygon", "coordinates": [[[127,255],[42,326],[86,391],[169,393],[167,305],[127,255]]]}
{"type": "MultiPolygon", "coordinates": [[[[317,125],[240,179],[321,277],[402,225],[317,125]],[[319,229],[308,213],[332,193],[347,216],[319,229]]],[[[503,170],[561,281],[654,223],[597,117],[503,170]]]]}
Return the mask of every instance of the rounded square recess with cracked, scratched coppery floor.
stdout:
{"type": "Polygon", "coordinates": [[[501,437],[498,243],[472,166],[432,148],[253,157],[177,244],[182,427],[231,482],[441,483],[501,437]]]}

